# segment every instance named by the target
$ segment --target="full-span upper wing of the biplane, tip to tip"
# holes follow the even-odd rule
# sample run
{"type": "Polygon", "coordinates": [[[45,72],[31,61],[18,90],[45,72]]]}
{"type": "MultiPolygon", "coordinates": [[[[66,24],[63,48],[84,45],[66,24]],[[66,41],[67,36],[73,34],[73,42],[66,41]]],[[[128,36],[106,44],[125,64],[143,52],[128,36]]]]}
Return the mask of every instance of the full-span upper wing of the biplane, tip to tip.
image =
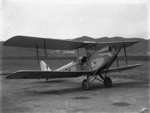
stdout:
{"type": "Polygon", "coordinates": [[[129,47],[138,41],[114,41],[114,42],[74,42],[67,40],[57,40],[50,38],[38,38],[30,36],[14,36],[4,42],[4,46],[46,48],[57,50],[73,50],[78,48],[101,49],[105,46],[129,47]]]}

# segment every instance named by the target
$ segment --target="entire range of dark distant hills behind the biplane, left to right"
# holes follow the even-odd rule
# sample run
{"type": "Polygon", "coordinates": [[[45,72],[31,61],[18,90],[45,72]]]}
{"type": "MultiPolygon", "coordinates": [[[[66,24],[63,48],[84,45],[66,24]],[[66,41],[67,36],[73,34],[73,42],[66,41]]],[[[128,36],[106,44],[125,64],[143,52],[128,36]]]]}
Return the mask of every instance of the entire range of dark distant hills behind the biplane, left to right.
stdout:
{"type": "MultiPolygon", "coordinates": [[[[110,42],[110,41],[130,41],[130,40],[138,40],[139,43],[127,49],[128,55],[131,56],[146,56],[149,50],[150,40],[145,40],[142,38],[123,38],[123,37],[102,37],[102,38],[92,38],[88,36],[82,36],[73,39],[73,41],[95,41],[95,42],[110,42]]],[[[49,56],[75,56],[75,54],[62,54],[63,51],[56,50],[47,50],[49,56]]],[[[123,55],[123,53],[120,53],[123,55]]],[[[40,50],[40,55],[44,55],[44,50],[40,50]]],[[[36,49],[31,48],[16,48],[16,47],[4,47],[3,42],[0,42],[0,56],[2,57],[35,57],[36,49]]]]}

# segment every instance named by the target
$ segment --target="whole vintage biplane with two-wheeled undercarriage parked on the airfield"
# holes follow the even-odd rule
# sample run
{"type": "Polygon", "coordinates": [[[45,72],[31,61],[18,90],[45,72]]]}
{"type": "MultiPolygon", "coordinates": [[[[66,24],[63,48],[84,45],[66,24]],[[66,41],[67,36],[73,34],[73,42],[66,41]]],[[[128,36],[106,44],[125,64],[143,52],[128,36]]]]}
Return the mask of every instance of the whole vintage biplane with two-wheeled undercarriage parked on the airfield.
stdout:
{"type": "Polygon", "coordinates": [[[85,76],[82,81],[82,88],[88,90],[95,80],[103,82],[106,88],[112,86],[112,80],[107,73],[129,70],[142,64],[128,65],[126,48],[136,44],[138,41],[113,41],[113,42],[77,42],[51,38],[40,38],[32,36],[14,36],[4,42],[4,46],[36,48],[37,61],[41,70],[20,70],[6,77],[6,79],[54,79],[54,78],[75,78],[85,76]],[[80,49],[84,49],[86,55],[81,57],[80,49]],[[54,50],[77,50],[76,60],[56,69],[50,67],[39,58],[39,49],[44,50],[47,58],[47,49],[54,50]],[[118,54],[124,50],[126,65],[119,66],[118,54]],[[110,66],[117,62],[117,66],[110,66]]]}

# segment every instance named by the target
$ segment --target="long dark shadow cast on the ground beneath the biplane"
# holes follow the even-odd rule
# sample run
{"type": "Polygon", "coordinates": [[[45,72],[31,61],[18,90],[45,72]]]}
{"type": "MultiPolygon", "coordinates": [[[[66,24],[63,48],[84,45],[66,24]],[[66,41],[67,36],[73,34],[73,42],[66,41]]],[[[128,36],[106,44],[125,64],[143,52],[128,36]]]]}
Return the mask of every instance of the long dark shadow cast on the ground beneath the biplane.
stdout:
{"type": "MultiPolygon", "coordinates": [[[[54,83],[59,81],[50,81],[49,83],[54,83]]],[[[63,82],[63,81],[60,81],[63,82]]],[[[45,83],[45,82],[41,82],[45,83]]],[[[90,90],[84,91],[82,87],[76,87],[76,88],[65,88],[65,89],[48,89],[48,90],[30,90],[29,92],[32,94],[38,94],[38,95],[63,95],[63,94],[69,94],[69,93],[75,93],[75,92],[93,92],[97,90],[109,90],[109,89],[118,89],[118,88],[148,88],[148,82],[145,81],[130,81],[125,83],[114,83],[111,88],[105,88],[103,84],[94,84],[90,90]]]]}

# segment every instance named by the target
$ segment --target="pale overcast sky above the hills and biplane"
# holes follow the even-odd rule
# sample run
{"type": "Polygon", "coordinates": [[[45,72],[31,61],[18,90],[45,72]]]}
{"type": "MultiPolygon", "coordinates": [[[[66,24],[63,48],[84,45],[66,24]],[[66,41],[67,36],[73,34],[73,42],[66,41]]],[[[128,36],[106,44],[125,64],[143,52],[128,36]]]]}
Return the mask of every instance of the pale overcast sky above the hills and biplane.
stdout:
{"type": "Polygon", "coordinates": [[[15,35],[148,39],[148,0],[3,0],[0,40],[15,35]]]}

